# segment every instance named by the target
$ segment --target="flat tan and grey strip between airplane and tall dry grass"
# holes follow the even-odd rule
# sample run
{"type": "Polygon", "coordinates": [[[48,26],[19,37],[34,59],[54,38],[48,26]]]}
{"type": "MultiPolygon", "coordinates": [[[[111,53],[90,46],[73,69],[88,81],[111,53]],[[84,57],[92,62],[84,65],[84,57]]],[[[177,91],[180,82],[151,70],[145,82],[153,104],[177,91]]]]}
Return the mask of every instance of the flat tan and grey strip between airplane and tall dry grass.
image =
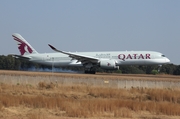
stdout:
{"type": "Polygon", "coordinates": [[[73,74],[0,70],[0,82],[31,84],[52,82],[59,85],[87,85],[108,88],[180,88],[180,76],[146,74],[73,74]]]}

